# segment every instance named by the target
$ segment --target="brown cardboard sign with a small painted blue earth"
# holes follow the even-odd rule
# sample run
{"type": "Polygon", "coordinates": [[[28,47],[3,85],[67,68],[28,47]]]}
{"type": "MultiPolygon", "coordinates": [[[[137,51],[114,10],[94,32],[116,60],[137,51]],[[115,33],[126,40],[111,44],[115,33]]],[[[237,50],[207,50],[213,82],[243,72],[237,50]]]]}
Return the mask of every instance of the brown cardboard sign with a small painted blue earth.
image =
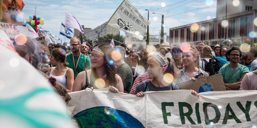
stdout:
{"type": "Polygon", "coordinates": [[[202,88],[204,88],[203,86],[209,86],[209,85],[211,85],[213,91],[226,91],[226,88],[223,82],[223,77],[221,74],[198,78],[196,79],[196,81],[189,80],[183,83],[178,83],[176,85],[179,86],[180,89],[187,89],[187,90],[192,89],[192,90],[195,90],[197,93],[199,93],[199,89],[201,86],[202,88]]]}

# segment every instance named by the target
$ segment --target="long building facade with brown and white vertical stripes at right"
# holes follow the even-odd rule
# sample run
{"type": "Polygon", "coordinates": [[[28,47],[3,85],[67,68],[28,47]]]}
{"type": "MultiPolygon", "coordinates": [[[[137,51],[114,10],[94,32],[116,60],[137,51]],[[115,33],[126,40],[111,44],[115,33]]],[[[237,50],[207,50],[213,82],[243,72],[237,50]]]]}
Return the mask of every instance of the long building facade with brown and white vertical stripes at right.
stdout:
{"type": "Polygon", "coordinates": [[[170,44],[180,45],[182,42],[188,42],[198,46],[200,43],[214,47],[216,44],[240,46],[247,43],[253,46],[256,38],[249,37],[250,32],[256,32],[257,26],[253,21],[257,17],[257,10],[244,11],[237,14],[231,14],[215,19],[200,21],[196,24],[199,29],[191,30],[191,25],[183,25],[170,28],[170,44]],[[222,25],[222,21],[227,20],[228,25],[222,25]]]}

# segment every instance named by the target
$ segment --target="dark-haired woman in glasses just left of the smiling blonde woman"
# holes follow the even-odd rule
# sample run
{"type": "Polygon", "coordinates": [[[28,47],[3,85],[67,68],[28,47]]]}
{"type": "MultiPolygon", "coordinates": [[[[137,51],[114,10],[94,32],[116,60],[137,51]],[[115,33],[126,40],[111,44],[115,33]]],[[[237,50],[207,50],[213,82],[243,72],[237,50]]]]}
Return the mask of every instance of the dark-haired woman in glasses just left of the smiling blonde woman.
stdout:
{"type": "Polygon", "coordinates": [[[171,50],[172,58],[175,60],[175,65],[179,70],[183,69],[183,62],[182,62],[182,50],[179,46],[175,46],[171,50]]]}

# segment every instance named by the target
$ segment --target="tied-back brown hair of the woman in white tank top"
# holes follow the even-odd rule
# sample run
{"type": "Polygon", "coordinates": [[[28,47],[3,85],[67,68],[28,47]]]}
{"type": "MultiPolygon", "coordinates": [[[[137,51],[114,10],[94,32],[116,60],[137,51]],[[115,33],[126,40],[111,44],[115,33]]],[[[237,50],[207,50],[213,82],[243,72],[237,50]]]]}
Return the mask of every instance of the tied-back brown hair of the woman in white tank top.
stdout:
{"type": "Polygon", "coordinates": [[[51,56],[54,57],[55,60],[59,61],[60,63],[63,63],[65,66],[69,65],[66,60],[65,51],[61,48],[55,48],[51,51],[51,56]]]}

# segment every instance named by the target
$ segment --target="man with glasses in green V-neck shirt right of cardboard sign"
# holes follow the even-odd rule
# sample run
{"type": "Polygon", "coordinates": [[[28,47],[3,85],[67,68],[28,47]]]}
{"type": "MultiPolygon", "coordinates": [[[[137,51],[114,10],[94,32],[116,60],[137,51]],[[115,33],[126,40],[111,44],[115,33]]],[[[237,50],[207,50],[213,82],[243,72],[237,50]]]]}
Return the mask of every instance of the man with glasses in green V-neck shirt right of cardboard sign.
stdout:
{"type": "Polygon", "coordinates": [[[234,46],[226,53],[227,61],[230,61],[230,64],[221,67],[219,70],[219,73],[222,74],[226,90],[239,90],[243,77],[249,72],[246,66],[238,63],[241,56],[242,52],[240,49],[234,46]]]}

